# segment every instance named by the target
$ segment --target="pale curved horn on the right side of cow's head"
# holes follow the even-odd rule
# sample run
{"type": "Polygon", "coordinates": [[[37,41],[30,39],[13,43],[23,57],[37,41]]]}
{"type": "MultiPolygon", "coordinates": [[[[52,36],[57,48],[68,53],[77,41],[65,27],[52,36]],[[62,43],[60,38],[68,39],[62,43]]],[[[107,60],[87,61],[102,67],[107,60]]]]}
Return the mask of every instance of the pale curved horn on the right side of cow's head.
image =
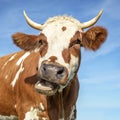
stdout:
{"type": "Polygon", "coordinates": [[[88,27],[94,25],[99,20],[102,13],[103,13],[103,10],[100,10],[100,12],[98,13],[98,15],[96,17],[94,17],[93,19],[91,19],[88,22],[81,23],[81,28],[88,28],[88,27]]]}

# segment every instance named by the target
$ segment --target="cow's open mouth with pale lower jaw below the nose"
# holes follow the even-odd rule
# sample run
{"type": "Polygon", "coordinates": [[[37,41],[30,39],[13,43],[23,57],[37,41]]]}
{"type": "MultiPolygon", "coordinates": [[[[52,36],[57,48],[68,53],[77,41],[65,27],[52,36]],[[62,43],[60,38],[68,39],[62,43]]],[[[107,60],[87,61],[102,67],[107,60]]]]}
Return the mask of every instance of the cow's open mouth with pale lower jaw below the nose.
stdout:
{"type": "Polygon", "coordinates": [[[39,78],[39,81],[35,84],[35,89],[39,93],[51,96],[57,92],[59,85],[39,78]]]}

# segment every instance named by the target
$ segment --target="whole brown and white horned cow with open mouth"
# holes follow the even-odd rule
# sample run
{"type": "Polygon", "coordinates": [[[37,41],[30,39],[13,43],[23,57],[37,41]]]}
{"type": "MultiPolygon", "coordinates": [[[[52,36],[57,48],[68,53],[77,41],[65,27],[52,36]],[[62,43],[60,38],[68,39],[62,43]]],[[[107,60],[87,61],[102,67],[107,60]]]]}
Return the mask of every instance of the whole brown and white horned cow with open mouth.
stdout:
{"type": "Polygon", "coordinates": [[[0,114],[19,120],[75,120],[80,48],[95,51],[107,37],[103,27],[83,29],[101,14],[85,23],[57,16],[41,25],[24,12],[27,23],[41,33],[15,33],[13,41],[23,51],[0,58],[0,114]]]}

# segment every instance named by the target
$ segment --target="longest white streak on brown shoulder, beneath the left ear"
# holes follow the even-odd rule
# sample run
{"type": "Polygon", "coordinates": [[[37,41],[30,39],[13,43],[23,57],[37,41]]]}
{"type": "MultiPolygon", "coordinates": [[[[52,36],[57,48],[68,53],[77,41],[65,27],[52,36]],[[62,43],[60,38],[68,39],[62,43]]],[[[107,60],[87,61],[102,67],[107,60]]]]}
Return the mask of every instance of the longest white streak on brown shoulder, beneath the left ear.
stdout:
{"type": "Polygon", "coordinates": [[[29,55],[30,55],[30,52],[26,52],[26,53],[17,61],[16,65],[17,65],[17,66],[20,65],[20,68],[19,68],[19,70],[17,71],[17,73],[16,73],[13,81],[11,82],[12,87],[15,86],[15,83],[16,83],[16,81],[18,80],[18,78],[19,78],[19,76],[20,76],[20,73],[23,72],[23,70],[24,70],[24,68],[23,68],[23,62],[24,62],[24,60],[25,60],[29,55]]]}

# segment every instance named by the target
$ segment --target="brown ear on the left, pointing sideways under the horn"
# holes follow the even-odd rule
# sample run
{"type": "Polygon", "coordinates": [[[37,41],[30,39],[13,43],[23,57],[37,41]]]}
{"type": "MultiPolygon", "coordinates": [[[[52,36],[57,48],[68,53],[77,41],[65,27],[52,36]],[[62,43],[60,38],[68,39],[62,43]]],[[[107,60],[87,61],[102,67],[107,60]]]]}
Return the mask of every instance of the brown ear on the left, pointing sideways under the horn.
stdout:
{"type": "Polygon", "coordinates": [[[39,36],[15,33],[12,35],[14,44],[26,51],[34,50],[38,46],[39,36]]]}

